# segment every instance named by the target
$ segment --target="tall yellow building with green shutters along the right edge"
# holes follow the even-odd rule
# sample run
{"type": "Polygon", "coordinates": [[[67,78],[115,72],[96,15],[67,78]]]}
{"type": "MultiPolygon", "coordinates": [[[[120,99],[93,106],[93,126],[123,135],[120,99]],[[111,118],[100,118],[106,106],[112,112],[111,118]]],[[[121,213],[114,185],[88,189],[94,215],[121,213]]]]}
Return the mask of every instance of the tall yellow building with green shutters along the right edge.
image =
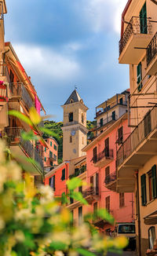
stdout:
{"type": "Polygon", "coordinates": [[[136,195],[139,255],[157,238],[157,2],[130,0],[122,13],[119,63],[130,65],[129,126],[117,152],[117,192],[136,195]]]}

